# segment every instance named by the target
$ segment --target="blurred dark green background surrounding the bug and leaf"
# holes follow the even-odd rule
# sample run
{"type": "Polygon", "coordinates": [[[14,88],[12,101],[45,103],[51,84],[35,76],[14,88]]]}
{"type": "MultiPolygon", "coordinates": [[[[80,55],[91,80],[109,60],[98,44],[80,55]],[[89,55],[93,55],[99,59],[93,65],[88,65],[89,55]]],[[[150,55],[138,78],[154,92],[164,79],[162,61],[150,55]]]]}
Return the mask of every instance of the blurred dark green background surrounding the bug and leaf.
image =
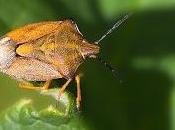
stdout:
{"type": "MultiPolygon", "coordinates": [[[[73,19],[95,41],[122,14],[133,16],[101,42],[101,56],[81,70],[82,114],[97,130],[175,130],[175,0],[0,0],[0,34],[45,20],[73,19]]],[[[71,87],[71,86],[70,86],[71,87]]],[[[1,74],[0,111],[24,97],[39,107],[50,99],[17,87],[1,74]]]]}

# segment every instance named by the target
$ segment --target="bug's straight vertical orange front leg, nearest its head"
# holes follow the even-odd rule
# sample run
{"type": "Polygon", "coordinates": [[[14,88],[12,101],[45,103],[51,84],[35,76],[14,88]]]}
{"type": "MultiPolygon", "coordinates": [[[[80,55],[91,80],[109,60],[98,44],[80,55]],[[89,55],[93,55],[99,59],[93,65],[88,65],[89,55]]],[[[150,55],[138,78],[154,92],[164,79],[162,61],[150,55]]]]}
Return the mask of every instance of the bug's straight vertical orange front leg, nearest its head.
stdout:
{"type": "Polygon", "coordinates": [[[80,108],[80,102],[81,102],[81,85],[80,85],[80,75],[77,75],[75,77],[75,80],[77,82],[77,99],[76,99],[76,102],[77,102],[77,108],[79,109],[80,108]]]}

